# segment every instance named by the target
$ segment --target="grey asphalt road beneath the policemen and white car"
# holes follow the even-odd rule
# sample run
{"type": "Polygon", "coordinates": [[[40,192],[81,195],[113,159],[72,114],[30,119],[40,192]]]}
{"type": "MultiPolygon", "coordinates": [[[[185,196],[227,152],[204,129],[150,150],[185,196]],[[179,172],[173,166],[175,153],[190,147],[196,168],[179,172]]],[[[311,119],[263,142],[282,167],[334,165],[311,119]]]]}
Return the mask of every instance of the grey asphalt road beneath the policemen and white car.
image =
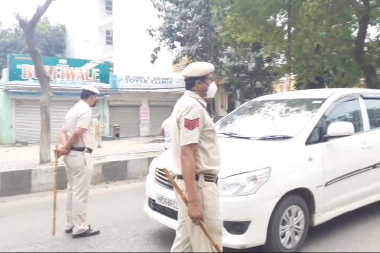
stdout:
{"type": "MultiPolygon", "coordinates": [[[[175,232],[142,211],[144,182],[91,189],[88,217],[101,234],[72,239],[64,233],[65,192],[58,193],[57,235],[51,235],[52,194],[0,198],[0,252],[167,252],[175,232]]],[[[378,252],[380,203],[311,228],[303,252],[378,252]]],[[[227,251],[241,252],[231,249],[227,251]]],[[[244,252],[260,251],[259,248],[244,252]]]]}

